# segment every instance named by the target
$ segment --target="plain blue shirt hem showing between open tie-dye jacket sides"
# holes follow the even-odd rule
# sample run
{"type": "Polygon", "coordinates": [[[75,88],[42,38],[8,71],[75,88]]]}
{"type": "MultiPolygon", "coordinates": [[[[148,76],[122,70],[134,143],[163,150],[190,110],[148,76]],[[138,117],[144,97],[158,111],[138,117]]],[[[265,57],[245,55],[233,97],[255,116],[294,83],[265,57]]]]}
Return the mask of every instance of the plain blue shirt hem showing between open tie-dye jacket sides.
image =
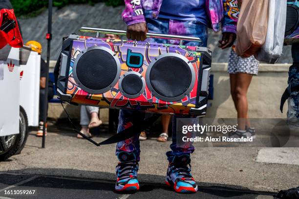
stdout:
{"type": "Polygon", "coordinates": [[[158,17],[171,20],[199,21],[205,25],[208,23],[205,0],[163,0],[158,17]]]}

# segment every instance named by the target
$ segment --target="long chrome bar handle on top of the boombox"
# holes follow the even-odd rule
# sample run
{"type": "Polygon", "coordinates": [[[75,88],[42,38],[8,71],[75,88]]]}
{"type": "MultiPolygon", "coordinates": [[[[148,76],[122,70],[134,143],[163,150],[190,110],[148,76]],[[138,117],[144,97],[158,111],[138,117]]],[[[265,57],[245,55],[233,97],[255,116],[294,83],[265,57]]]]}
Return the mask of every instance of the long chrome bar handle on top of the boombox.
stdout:
{"type": "MultiPolygon", "coordinates": [[[[114,34],[114,35],[127,35],[127,31],[125,30],[113,30],[113,29],[105,29],[105,28],[92,28],[92,27],[81,27],[79,31],[82,32],[92,32],[96,33],[96,37],[99,37],[99,33],[102,34],[114,34]]],[[[186,37],[179,35],[164,35],[157,33],[147,33],[148,38],[158,38],[158,39],[166,39],[166,40],[180,40],[180,45],[183,45],[183,41],[196,41],[202,42],[200,38],[196,37],[186,37]]]]}

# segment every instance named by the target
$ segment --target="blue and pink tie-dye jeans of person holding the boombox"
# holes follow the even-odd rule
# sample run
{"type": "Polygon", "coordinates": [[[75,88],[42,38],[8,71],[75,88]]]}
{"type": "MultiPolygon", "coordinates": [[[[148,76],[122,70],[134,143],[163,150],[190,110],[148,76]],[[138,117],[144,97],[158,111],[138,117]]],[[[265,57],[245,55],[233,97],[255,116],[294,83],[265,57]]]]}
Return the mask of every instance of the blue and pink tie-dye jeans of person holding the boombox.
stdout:
{"type": "MultiPolygon", "coordinates": [[[[181,21],[181,20],[168,20],[168,19],[147,19],[147,25],[149,32],[170,34],[170,35],[182,35],[190,37],[198,37],[202,40],[202,43],[195,41],[185,41],[184,45],[189,46],[207,46],[208,29],[207,26],[198,21],[181,21]]],[[[171,43],[178,44],[178,40],[164,40],[164,39],[147,39],[149,42],[157,43],[171,43]]],[[[121,110],[119,114],[119,124],[117,132],[121,132],[124,129],[130,127],[135,122],[142,122],[145,118],[150,117],[150,114],[141,113],[138,111],[121,110]]],[[[167,158],[171,161],[175,156],[190,155],[194,151],[194,147],[189,145],[188,148],[180,148],[176,145],[176,118],[179,116],[173,116],[172,119],[172,143],[170,145],[171,151],[166,153],[167,158]]],[[[116,156],[122,152],[134,153],[137,160],[139,160],[140,143],[139,135],[120,141],[116,145],[116,156]]]]}

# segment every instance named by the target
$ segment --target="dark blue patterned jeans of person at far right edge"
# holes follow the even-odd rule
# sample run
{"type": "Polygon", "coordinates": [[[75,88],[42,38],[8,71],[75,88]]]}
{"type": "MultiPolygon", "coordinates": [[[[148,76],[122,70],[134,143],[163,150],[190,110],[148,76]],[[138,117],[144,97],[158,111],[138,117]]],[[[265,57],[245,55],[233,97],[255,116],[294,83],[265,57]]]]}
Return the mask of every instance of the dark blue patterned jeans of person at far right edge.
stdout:
{"type": "Polygon", "coordinates": [[[299,43],[292,44],[293,65],[288,79],[288,122],[299,127],[299,43]]]}

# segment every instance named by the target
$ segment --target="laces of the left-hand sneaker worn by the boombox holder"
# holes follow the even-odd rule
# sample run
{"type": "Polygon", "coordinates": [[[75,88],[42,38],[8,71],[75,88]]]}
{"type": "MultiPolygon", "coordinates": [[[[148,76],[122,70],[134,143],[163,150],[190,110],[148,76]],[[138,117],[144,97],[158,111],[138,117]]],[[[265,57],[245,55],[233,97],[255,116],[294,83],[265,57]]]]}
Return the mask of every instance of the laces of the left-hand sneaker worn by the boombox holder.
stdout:
{"type": "Polygon", "coordinates": [[[138,171],[138,161],[136,160],[119,162],[118,165],[116,166],[118,181],[121,179],[136,178],[137,171],[138,171]]]}

